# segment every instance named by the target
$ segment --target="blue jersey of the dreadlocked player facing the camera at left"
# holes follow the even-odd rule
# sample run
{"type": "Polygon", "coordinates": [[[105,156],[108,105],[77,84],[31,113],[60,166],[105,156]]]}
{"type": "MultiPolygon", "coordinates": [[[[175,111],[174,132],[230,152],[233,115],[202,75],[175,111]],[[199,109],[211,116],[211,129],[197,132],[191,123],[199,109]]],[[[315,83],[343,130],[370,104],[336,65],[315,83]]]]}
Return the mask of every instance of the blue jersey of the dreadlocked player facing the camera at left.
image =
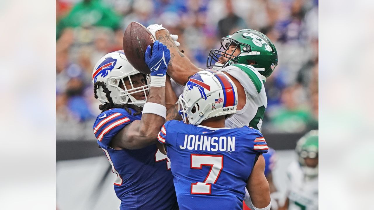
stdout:
{"type": "Polygon", "coordinates": [[[156,145],[133,150],[109,146],[123,127],[140,119],[141,115],[116,108],[101,113],[93,125],[97,142],[117,174],[114,191],[122,201],[120,210],[178,209],[170,161],[156,145]]]}

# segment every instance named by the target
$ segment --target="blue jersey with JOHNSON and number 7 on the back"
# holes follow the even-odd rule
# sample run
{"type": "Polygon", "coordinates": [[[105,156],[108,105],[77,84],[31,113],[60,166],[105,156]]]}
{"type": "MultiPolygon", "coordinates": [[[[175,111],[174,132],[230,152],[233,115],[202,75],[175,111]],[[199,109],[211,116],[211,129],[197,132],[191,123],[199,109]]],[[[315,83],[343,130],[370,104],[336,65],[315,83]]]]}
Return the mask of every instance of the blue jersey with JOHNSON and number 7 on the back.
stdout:
{"type": "Polygon", "coordinates": [[[181,210],[242,210],[246,181],[262,134],[249,127],[214,129],[168,121],[157,137],[166,144],[181,210]]]}

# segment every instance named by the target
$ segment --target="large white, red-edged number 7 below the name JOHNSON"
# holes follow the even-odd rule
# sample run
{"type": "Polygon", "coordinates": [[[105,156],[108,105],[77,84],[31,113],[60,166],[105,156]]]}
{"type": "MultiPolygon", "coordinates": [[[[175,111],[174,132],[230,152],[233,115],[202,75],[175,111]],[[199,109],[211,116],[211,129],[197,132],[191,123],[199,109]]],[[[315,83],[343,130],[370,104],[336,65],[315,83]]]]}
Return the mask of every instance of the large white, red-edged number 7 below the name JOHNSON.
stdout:
{"type": "Polygon", "coordinates": [[[223,155],[191,154],[191,169],[202,169],[210,166],[208,175],[203,182],[191,183],[191,194],[210,195],[212,184],[215,184],[223,169],[223,155]]]}

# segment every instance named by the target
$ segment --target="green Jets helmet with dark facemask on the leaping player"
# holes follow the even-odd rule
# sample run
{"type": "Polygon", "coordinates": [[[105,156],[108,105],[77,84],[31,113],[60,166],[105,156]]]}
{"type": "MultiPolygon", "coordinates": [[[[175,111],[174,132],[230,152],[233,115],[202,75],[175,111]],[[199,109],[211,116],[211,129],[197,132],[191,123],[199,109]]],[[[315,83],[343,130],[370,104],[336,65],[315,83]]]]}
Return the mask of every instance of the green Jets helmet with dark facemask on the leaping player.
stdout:
{"type": "Polygon", "coordinates": [[[252,65],[267,78],[278,65],[278,53],[273,42],[266,35],[256,30],[243,29],[223,37],[220,49],[211,49],[206,61],[206,67],[208,68],[222,68],[231,64],[252,65]],[[235,46],[235,50],[239,48],[240,54],[234,56],[232,53],[226,52],[229,46],[235,46]],[[229,60],[221,65],[217,63],[220,56],[229,60]]]}

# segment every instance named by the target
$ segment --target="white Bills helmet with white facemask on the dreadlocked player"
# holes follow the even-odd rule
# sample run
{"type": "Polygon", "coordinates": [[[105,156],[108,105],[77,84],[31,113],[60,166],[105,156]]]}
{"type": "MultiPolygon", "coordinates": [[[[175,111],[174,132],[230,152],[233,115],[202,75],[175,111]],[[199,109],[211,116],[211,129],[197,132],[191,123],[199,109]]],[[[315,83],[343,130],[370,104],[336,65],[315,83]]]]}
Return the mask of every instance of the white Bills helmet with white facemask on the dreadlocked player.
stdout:
{"type": "MultiPolygon", "coordinates": [[[[95,65],[92,72],[92,82],[95,84],[97,81],[102,81],[107,86],[108,90],[111,91],[110,97],[113,99],[114,104],[134,104],[137,106],[143,106],[147,101],[147,92],[149,90],[149,77],[145,75],[147,84],[141,87],[134,88],[132,86],[131,75],[139,74],[140,72],[136,70],[127,61],[125,53],[123,50],[108,53],[104,55],[95,65]],[[124,78],[128,77],[131,89],[126,89],[124,78]],[[122,82],[125,90],[119,87],[122,82]],[[134,92],[131,92],[134,91],[134,92]],[[144,92],[145,100],[137,100],[130,94],[144,92]],[[131,92],[131,93],[129,93],[131,92]],[[131,102],[129,102],[129,99],[131,102]]],[[[107,97],[105,96],[104,89],[98,87],[96,94],[101,103],[109,103],[107,97]]]]}

